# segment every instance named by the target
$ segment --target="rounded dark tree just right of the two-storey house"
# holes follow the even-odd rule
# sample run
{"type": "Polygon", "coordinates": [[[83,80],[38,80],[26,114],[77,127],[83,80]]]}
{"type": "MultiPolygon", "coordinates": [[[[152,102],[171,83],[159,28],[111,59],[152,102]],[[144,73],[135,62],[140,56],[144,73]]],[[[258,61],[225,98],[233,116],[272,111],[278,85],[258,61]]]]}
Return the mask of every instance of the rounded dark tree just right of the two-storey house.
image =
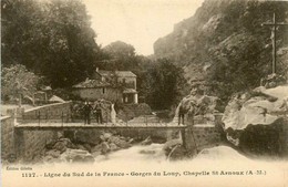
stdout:
{"type": "Polygon", "coordinates": [[[168,110],[187,93],[184,72],[166,59],[157,60],[143,76],[141,92],[154,110],[168,110]]]}

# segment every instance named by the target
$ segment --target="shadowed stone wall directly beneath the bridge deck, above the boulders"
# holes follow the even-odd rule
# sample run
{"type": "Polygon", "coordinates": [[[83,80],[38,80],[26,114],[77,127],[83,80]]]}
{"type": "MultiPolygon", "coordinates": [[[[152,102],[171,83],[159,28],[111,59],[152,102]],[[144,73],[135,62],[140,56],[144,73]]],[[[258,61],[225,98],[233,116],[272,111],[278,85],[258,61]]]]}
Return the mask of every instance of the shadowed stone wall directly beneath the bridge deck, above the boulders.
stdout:
{"type": "Polygon", "coordinates": [[[74,143],[90,144],[91,146],[101,143],[100,136],[103,132],[133,138],[141,142],[152,138],[153,143],[165,143],[171,134],[176,134],[178,128],[155,127],[41,127],[41,126],[17,126],[13,128],[13,149],[18,159],[27,163],[38,160],[45,146],[58,141],[61,136],[68,137],[74,143]]]}

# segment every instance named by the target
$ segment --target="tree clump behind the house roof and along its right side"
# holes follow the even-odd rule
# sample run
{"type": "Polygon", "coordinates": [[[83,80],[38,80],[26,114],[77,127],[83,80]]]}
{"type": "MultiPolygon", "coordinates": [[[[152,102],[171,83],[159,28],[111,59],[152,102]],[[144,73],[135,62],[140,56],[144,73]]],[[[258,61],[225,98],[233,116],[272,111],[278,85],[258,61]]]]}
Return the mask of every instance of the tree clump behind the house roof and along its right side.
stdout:
{"type": "Polygon", "coordinates": [[[153,110],[168,110],[187,93],[181,67],[166,59],[150,60],[137,55],[134,46],[116,41],[105,46],[105,70],[128,70],[137,75],[140,98],[153,110]]]}

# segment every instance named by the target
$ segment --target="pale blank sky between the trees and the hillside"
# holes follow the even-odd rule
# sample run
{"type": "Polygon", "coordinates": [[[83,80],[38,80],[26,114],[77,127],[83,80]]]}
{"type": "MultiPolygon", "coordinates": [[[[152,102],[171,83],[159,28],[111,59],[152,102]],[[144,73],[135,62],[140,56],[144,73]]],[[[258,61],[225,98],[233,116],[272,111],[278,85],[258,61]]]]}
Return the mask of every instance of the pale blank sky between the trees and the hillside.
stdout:
{"type": "Polygon", "coordinates": [[[132,44],[137,54],[153,54],[153,43],[192,17],[204,0],[82,0],[92,17],[96,43],[132,44]]]}

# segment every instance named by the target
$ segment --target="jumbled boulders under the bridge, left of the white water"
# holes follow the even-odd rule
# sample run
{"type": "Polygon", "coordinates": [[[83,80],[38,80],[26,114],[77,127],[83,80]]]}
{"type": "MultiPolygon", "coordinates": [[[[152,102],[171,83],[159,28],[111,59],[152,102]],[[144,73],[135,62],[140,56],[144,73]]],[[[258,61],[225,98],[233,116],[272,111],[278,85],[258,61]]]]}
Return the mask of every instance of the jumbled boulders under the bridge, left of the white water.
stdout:
{"type": "MultiPolygon", "coordinates": [[[[66,135],[69,136],[69,135],[66,135]]],[[[96,135],[95,135],[96,136],[96,135]]],[[[99,137],[62,136],[58,141],[45,146],[42,153],[42,163],[93,163],[100,155],[109,155],[120,149],[126,149],[133,145],[151,145],[152,138],[143,139],[124,137],[111,132],[102,132],[99,137]]],[[[143,153],[147,154],[147,153],[143,153]]]]}

